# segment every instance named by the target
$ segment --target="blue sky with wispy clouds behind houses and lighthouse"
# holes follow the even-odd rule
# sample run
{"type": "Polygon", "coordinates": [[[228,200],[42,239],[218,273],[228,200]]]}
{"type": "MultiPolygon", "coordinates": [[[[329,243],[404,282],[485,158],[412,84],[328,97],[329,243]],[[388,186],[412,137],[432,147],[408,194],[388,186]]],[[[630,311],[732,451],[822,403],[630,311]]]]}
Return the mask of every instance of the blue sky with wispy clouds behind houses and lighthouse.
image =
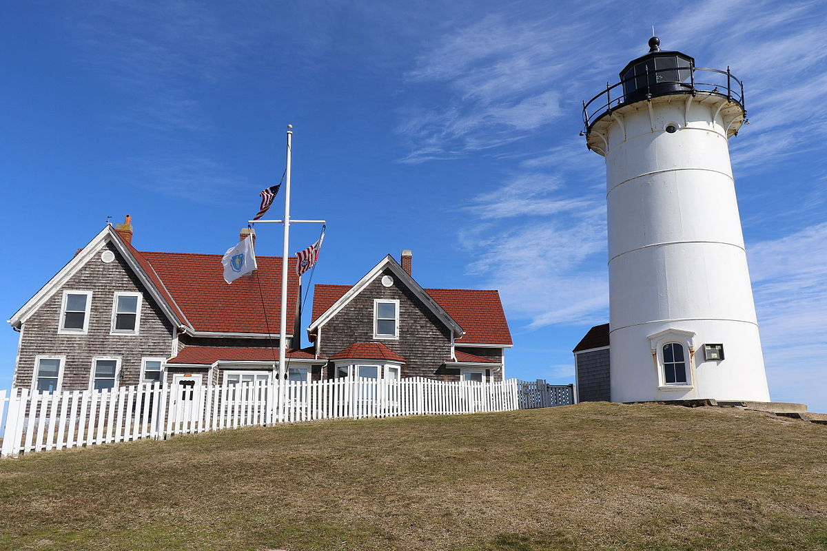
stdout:
{"type": "MultiPolygon", "coordinates": [[[[106,223],[223,253],[284,170],[328,221],[314,283],[414,251],[500,289],[510,377],[573,381],[608,319],[603,159],[581,100],[662,47],[746,86],[730,141],[772,398],[827,411],[824,2],[17,2],[0,21],[7,319],[106,223]]],[[[318,228],[296,226],[294,250],[318,228]]],[[[260,254],[280,254],[275,226],[260,254]]],[[[218,268],[217,268],[218,269],[218,268]]],[[[274,290],[275,292],[275,290],[274,290]]],[[[305,323],[304,325],[307,325],[305,323]]],[[[0,331],[0,387],[17,333],[0,331]]]]}

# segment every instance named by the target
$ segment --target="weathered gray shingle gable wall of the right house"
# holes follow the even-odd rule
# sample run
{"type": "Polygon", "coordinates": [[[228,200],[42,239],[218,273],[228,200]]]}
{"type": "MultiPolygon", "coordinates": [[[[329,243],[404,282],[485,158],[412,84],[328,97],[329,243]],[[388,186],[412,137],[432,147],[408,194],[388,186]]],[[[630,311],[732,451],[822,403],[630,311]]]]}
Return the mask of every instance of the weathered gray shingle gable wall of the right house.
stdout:
{"type": "MultiPolygon", "coordinates": [[[[348,302],[321,328],[319,355],[330,357],[355,342],[380,342],[407,360],[402,377],[428,377],[456,381],[456,369],[446,369],[451,358],[451,330],[421,302],[408,287],[400,284],[390,269],[383,270],[359,295],[348,302]],[[381,283],[383,275],[394,278],[391,287],[381,283]],[[399,300],[399,339],[373,338],[373,301],[399,300]]],[[[332,367],[326,369],[326,376],[332,367]]]]}

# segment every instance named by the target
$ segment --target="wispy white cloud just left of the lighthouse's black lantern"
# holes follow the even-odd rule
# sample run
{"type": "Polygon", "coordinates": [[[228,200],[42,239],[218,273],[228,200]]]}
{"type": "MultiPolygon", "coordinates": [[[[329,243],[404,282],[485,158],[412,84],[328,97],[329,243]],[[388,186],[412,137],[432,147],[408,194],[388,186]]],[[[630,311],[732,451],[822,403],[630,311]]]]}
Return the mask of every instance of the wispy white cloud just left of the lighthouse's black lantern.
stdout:
{"type": "Polygon", "coordinates": [[[400,113],[398,130],[414,145],[403,162],[490,150],[570,112],[573,75],[580,79],[599,70],[595,64],[582,66],[576,52],[587,29],[585,21],[488,15],[446,33],[406,75],[414,89],[438,87],[442,93],[438,105],[400,113]]]}

